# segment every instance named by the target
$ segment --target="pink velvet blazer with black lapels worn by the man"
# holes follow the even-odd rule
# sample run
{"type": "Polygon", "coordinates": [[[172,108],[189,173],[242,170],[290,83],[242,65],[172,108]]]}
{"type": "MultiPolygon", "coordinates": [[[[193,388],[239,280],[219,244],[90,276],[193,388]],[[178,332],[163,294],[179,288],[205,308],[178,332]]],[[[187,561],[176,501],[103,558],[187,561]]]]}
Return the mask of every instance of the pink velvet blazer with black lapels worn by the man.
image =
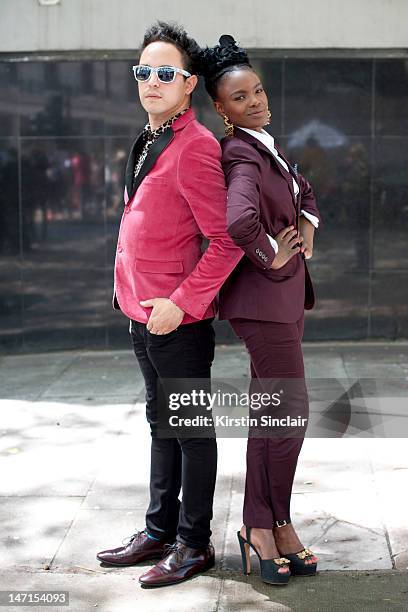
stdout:
{"type": "Polygon", "coordinates": [[[133,184],[138,150],[139,139],[126,168],[113,306],[147,323],[151,308],[140,301],[165,297],[185,311],[183,323],[213,317],[220,286],[243,256],[227,233],[220,145],[189,109],[150,147],[133,184]]]}

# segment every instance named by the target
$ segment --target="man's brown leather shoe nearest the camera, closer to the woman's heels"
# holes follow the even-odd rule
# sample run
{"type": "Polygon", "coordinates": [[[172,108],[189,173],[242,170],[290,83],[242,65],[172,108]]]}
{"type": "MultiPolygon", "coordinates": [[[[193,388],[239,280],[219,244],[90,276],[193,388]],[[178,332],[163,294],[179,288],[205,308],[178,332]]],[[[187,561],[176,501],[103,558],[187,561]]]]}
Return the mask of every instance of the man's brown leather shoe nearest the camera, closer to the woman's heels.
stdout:
{"type": "Polygon", "coordinates": [[[196,549],[176,542],[166,546],[166,551],[163,559],[140,576],[139,582],[143,587],[177,584],[214,567],[215,556],[212,544],[206,548],[196,549]]]}

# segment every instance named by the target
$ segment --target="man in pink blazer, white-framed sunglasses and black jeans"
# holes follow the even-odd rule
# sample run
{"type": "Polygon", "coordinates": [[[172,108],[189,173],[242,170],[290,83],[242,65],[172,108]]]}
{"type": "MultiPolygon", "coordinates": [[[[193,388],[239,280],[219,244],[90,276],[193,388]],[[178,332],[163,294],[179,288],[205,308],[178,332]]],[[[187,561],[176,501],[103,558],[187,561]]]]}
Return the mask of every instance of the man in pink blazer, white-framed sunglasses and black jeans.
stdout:
{"type": "Polygon", "coordinates": [[[198,51],[183,29],[159,22],[146,32],[133,68],[149,123],[126,168],[114,307],[130,319],[146,383],[150,504],[146,528],[97,558],[117,566],[161,558],[139,578],[145,587],[180,582],[214,565],[215,438],[157,435],[167,411],[163,381],[203,379],[209,389],[216,295],[243,255],[226,230],[220,146],[190,108],[198,51]]]}

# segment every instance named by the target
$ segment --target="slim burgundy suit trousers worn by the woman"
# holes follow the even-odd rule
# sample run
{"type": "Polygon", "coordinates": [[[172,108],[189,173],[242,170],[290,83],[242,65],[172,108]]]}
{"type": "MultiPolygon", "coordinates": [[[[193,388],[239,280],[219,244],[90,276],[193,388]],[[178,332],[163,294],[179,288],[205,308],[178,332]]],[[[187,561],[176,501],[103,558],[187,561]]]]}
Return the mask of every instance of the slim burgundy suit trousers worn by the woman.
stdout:
{"type": "MultiPolygon", "coordinates": [[[[295,323],[250,319],[232,319],[230,323],[251,358],[250,393],[260,388],[268,393],[276,391],[277,379],[290,379],[285,381],[290,389],[286,398],[292,404],[287,408],[307,419],[309,403],[301,349],[304,314],[295,323]]],[[[273,415],[273,407],[270,412],[273,415]]],[[[291,520],[290,498],[304,431],[301,435],[297,432],[296,437],[251,437],[249,432],[243,509],[247,527],[272,529],[276,521],[291,520]]]]}

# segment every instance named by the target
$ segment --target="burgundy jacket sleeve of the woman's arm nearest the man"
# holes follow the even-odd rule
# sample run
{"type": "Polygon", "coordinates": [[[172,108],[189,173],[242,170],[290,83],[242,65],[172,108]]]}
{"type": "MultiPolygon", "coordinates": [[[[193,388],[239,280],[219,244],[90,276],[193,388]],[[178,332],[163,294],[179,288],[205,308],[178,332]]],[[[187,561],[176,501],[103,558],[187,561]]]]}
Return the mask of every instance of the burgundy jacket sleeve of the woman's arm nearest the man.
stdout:
{"type": "Polygon", "coordinates": [[[251,145],[229,141],[223,167],[228,186],[228,233],[256,266],[270,268],[275,250],[260,221],[262,177],[257,153],[251,145]]]}

